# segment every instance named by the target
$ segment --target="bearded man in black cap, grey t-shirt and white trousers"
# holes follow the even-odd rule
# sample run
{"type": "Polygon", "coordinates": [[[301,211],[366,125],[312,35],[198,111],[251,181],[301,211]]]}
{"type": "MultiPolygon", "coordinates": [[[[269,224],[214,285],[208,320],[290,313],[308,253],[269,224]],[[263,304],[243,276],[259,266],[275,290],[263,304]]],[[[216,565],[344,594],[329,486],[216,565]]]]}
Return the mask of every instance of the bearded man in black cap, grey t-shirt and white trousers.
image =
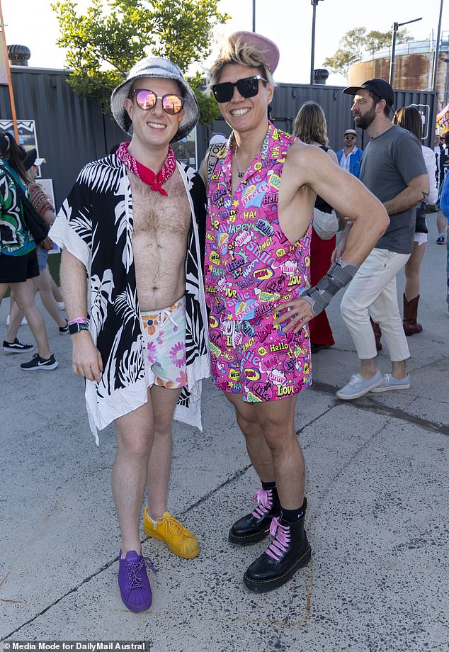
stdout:
{"type": "MultiPolygon", "coordinates": [[[[341,301],[341,316],[356,345],[360,369],[336,395],[351,400],[370,391],[410,387],[406,366],[410,354],[397,305],[396,274],[411,254],[415,208],[428,196],[428,174],[421,144],[390,121],[394,95],[387,81],[370,79],[343,93],[354,96],[354,122],[370,137],[363,153],[360,181],[382,201],[390,216],[390,226],[358,269],[341,301]],[[392,373],[385,376],[377,369],[370,317],[380,325],[392,361],[392,373]]],[[[348,225],[343,232],[338,255],[346,246],[350,229],[348,225]]]]}

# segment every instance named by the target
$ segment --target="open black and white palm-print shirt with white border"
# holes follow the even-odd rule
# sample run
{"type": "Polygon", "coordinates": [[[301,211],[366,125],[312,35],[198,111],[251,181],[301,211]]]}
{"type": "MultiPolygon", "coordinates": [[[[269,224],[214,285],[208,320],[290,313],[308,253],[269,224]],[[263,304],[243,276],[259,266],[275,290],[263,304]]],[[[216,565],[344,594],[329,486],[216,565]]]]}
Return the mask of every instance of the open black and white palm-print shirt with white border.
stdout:
{"type": "MultiPolygon", "coordinates": [[[[186,370],[174,418],[200,430],[201,380],[210,375],[203,286],[203,181],[177,162],[191,206],[186,255],[186,370]],[[200,246],[201,245],[201,246],[200,246]]],[[[101,381],[86,380],[91,430],[98,432],[147,402],[148,359],[132,251],[132,196],[115,154],[87,164],[59,210],[50,235],[86,267],[89,330],[103,359],[101,381]]]]}

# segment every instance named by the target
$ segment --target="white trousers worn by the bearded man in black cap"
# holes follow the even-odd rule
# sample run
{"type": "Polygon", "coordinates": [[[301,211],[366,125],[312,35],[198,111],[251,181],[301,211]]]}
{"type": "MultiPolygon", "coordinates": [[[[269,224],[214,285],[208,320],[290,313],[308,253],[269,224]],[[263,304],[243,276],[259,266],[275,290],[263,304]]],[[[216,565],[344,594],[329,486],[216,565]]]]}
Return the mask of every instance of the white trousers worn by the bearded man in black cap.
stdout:
{"type": "Polygon", "coordinates": [[[351,333],[360,360],[377,356],[370,317],[380,325],[382,342],[393,362],[410,357],[397,305],[396,274],[410,254],[373,249],[360,265],[341,300],[341,317],[351,333]]]}

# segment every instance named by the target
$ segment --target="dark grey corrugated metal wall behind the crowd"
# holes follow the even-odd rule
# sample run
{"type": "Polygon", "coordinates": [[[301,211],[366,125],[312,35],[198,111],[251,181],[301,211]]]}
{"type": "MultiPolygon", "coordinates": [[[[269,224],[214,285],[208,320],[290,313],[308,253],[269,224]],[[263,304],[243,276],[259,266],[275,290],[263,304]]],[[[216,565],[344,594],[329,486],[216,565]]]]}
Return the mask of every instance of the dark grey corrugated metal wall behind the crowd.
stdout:
{"type": "MultiPolygon", "coordinates": [[[[60,206],[81,167],[104,156],[125,134],[101,106],[81,100],[67,84],[68,73],[61,70],[13,67],[16,113],[19,119],[35,120],[40,156],[47,159],[42,169],[45,178],[53,179],[57,207],[60,206]]],[[[429,115],[426,145],[433,147],[432,125],[435,124],[436,101],[431,92],[395,91],[396,108],[411,103],[427,106],[429,115]]],[[[318,102],[326,114],[329,143],[332,149],[342,147],[343,131],[353,126],[352,99],[341,93],[339,86],[279,84],[273,99],[273,120],[286,131],[292,130],[298,109],[303,102],[318,102]]],[[[8,89],[0,86],[0,118],[11,118],[8,89]]],[[[229,134],[224,120],[216,120],[212,128],[198,128],[198,159],[203,159],[210,135],[229,134]]],[[[358,130],[357,144],[366,143],[358,130]]]]}

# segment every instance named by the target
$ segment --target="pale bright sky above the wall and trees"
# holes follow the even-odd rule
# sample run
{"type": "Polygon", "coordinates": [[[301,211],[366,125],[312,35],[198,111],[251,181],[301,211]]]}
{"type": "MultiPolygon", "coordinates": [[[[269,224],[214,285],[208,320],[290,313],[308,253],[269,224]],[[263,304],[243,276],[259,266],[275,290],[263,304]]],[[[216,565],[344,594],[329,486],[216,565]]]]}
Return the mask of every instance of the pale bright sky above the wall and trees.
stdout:
{"type": "MultiPolygon", "coordinates": [[[[80,11],[89,0],[79,0],[80,11]]],[[[30,65],[64,67],[64,52],[55,44],[58,23],[48,0],[1,0],[8,45],[19,43],[31,50],[30,65]]],[[[253,0],[222,0],[220,9],[232,19],[215,35],[217,42],[234,30],[251,30],[253,0]]],[[[315,67],[334,53],[339,40],[351,28],[386,31],[394,21],[402,23],[420,18],[408,26],[415,39],[436,35],[440,0],[320,0],[317,6],[315,67]]],[[[449,0],[443,11],[443,30],[449,35],[449,0]]],[[[310,37],[312,5],[310,0],[256,0],[256,31],[271,38],[280,48],[276,81],[307,84],[310,75],[310,37]]],[[[217,52],[215,46],[214,53],[217,52]]],[[[332,76],[329,83],[344,84],[341,76],[332,76]]]]}

